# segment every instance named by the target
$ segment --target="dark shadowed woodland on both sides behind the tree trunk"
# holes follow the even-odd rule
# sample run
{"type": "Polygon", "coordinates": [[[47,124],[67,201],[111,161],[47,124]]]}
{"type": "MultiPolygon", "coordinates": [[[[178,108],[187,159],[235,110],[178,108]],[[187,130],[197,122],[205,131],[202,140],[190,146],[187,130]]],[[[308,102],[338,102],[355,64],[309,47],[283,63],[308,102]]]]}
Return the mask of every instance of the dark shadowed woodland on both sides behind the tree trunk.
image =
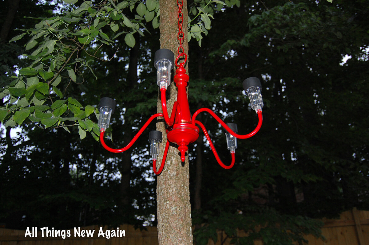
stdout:
{"type": "MultiPolygon", "coordinates": [[[[30,62],[20,56],[28,39],[9,40],[21,33],[17,29],[34,27],[38,17],[70,8],[57,3],[0,2],[1,87],[30,62]]],[[[225,122],[237,123],[239,133],[250,132],[257,116],[242,95],[242,81],[255,76],[263,85],[263,126],[256,136],[238,141],[230,170],[217,164],[202,135],[190,145],[196,243],[215,238],[217,229],[235,237],[237,228],[250,231],[238,244],[256,238],[264,244],[301,242],[303,233],[318,235],[321,224],[313,218],[336,217],[352,207],[368,210],[367,1],[228,5],[212,10],[214,20],[201,46],[194,38],[189,43],[190,109],[211,108],[225,122]],[[258,225],[263,228],[254,230],[258,225]]],[[[90,53],[104,59],[90,57],[93,74],[85,71],[83,80],[63,91],[83,105],[115,98],[114,147],[127,144],[156,112],[152,59],[159,30],[148,25],[148,31],[135,36],[133,48],[120,37],[113,47],[91,45],[90,53]]],[[[78,56],[88,55],[73,58],[78,56]]],[[[90,118],[97,122],[93,114],[90,118]]],[[[206,113],[200,120],[223,161],[230,161],[224,130],[206,113]]],[[[7,228],[156,224],[149,130],[123,154],[109,153],[90,135],[81,140],[77,127],[69,133],[25,123],[13,130],[2,126],[0,139],[0,223],[7,228]]]]}

